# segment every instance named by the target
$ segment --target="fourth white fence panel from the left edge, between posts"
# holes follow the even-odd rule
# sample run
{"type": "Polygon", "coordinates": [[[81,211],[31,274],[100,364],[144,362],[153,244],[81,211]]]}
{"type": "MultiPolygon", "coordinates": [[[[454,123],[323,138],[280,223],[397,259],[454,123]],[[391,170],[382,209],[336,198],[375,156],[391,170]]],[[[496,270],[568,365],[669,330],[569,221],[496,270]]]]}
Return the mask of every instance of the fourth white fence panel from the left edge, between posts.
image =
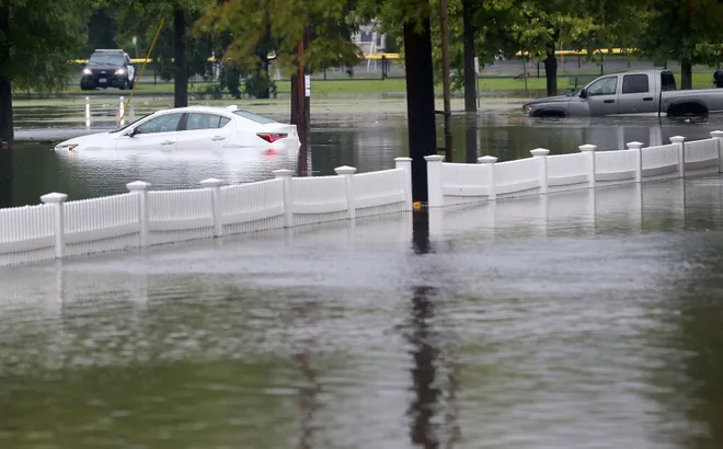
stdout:
{"type": "Polygon", "coordinates": [[[225,233],[274,229],[284,226],[284,180],[221,187],[225,233]]]}

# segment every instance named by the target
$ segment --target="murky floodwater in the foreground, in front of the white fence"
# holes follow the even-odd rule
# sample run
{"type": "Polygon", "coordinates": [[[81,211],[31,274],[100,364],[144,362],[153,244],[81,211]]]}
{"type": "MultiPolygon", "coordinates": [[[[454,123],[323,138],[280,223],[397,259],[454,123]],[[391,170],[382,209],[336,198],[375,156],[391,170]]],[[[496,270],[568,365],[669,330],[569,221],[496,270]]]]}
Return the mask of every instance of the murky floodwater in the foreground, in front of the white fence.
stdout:
{"type": "Polygon", "coordinates": [[[722,202],[650,183],[2,268],[0,447],[720,448],[722,202]]]}

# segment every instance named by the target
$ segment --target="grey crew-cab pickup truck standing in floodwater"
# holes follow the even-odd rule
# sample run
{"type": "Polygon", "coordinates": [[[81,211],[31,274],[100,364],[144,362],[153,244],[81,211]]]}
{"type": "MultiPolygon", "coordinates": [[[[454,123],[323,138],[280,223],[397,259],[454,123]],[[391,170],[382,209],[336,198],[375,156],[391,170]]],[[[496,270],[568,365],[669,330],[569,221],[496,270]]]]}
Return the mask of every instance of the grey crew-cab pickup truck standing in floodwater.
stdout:
{"type": "Polygon", "coordinates": [[[605,74],[567,95],[526,103],[527,117],[686,116],[723,112],[723,89],[676,90],[669,70],[605,74]]]}

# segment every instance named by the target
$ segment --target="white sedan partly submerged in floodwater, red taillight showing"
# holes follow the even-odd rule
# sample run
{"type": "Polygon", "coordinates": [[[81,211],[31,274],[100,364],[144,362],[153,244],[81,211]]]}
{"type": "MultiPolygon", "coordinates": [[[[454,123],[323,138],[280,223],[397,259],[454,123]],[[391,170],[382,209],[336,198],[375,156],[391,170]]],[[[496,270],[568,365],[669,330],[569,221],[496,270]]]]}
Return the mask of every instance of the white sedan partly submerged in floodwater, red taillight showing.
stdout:
{"type": "Polygon", "coordinates": [[[299,147],[296,125],[237,106],[188,106],[157,111],[110,133],[76,137],[58,143],[55,150],[144,153],[253,148],[295,153],[299,147]]]}

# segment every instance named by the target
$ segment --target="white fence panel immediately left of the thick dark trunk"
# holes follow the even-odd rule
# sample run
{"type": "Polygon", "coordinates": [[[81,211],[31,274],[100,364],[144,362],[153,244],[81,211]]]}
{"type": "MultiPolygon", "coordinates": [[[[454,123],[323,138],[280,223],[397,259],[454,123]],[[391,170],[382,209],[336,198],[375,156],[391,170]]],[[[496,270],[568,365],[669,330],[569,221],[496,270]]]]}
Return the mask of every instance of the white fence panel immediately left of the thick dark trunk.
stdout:
{"type": "Polygon", "coordinates": [[[357,209],[357,216],[403,210],[404,183],[404,169],[354,175],[354,207],[357,209]],[[397,210],[390,210],[393,206],[398,206],[397,210]]]}

